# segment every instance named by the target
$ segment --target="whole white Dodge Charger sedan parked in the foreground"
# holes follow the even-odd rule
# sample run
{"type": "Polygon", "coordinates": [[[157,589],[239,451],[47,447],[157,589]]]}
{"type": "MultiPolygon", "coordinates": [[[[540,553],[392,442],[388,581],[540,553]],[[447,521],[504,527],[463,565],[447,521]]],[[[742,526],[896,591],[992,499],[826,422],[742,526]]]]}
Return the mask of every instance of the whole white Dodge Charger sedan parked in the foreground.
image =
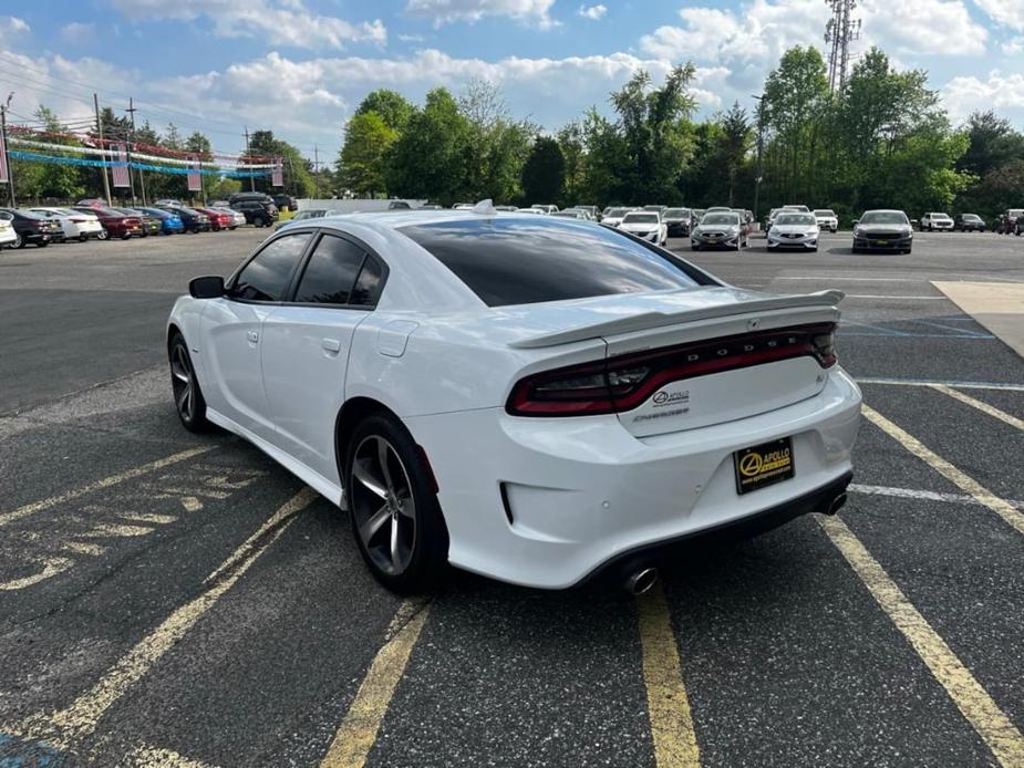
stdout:
{"type": "Polygon", "coordinates": [[[841,293],[732,288],[613,228],[517,214],[286,227],[167,329],[188,429],[256,444],[350,510],[397,591],[447,563],[639,590],[676,541],[834,512],[860,392],[841,293]]]}

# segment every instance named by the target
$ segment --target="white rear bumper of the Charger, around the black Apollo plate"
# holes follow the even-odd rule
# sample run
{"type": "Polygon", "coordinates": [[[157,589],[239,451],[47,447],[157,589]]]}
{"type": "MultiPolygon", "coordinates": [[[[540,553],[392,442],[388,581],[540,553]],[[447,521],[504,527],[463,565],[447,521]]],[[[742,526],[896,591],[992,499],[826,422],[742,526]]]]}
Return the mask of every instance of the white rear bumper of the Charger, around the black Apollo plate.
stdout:
{"type": "Polygon", "coordinates": [[[814,511],[849,481],[859,423],[860,391],[839,369],[805,401],[645,438],[616,416],[485,408],[406,419],[437,478],[451,562],[544,589],[681,538],[814,511]],[[787,436],[795,477],[741,496],[733,453],[787,436]]]}

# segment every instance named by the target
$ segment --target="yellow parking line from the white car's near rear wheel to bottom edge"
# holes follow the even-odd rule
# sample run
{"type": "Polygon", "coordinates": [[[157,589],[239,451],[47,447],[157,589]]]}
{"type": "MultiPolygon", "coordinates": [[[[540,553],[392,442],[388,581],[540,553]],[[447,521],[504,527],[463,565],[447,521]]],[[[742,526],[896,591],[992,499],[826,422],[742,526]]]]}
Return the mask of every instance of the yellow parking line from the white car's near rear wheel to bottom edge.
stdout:
{"type": "MultiPolygon", "coordinates": [[[[415,608],[415,604],[403,603],[396,615],[407,614],[412,610],[411,605],[415,608]]],[[[334,734],[334,740],[320,762],[321,768],[361,768],[365,764],[428,613],[430,603],[414,613],[377,651],[349,712],[334,734]]]]}

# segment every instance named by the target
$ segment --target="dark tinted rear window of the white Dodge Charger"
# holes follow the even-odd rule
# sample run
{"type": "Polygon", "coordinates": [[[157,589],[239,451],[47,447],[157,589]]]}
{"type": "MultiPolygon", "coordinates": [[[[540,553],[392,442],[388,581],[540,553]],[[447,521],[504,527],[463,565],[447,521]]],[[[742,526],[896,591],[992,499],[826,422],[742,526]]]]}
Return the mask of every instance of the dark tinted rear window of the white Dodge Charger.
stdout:
{"type": "Polygon", "coordinates": [[[487,218],[400,231],[488,307],[691,288],[700,278],[696,271],[691,277],[682,261],[582,222],[487,218]]]}

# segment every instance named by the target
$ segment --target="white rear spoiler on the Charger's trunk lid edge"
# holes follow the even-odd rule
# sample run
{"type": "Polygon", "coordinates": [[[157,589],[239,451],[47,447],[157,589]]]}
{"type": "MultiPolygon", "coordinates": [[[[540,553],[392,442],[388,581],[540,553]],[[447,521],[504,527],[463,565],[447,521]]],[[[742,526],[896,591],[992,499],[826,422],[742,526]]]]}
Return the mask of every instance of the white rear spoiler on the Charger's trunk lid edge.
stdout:
{"type": "Polygon", "coordinates": [[[772,310],[796,309],[805,307],[832,307],[842,301],[846,294],[842,291],[829,290],[815,293],[798,293],[793,295],[776,295],[768,299],[755,299],[737,303],[723,303],[715,307],[685,310],[683,312],[644,312],[628,318],[618,318],[604,322],[582,325],[541,334],[529,339],[514,341],[509,346],[517,350],[535,350],[542,346],[557,346],[575,341],[587,341],[600,336],[631,333],[633,331],[648,331],[653,328],[678,325],[697,320],[712,320],[714,318],[728,318],[731,315],[752,314],[754,312],[768,312],[772,310]]]}

